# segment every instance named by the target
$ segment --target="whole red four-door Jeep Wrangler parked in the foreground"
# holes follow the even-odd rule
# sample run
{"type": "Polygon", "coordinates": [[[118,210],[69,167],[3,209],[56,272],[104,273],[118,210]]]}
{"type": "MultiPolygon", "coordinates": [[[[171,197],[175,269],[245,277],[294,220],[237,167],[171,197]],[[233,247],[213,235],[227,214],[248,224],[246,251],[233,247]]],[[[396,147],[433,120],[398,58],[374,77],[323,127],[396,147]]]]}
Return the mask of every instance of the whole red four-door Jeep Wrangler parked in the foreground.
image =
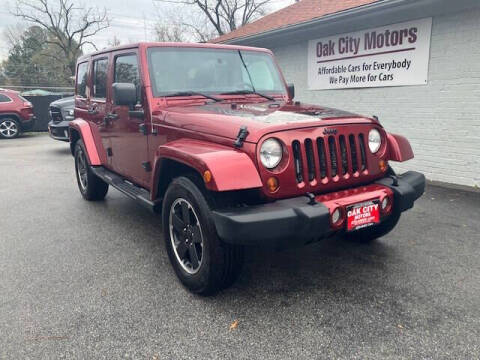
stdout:
{"type": "Polygon", "coordinates": [[[293,101],[269,50],[140,43],[78,60],[70,144],[78,186],[161,210],[191,291],[231,284],[243,246],[383,236],[425,187],[378,119],[293,101]]]}

